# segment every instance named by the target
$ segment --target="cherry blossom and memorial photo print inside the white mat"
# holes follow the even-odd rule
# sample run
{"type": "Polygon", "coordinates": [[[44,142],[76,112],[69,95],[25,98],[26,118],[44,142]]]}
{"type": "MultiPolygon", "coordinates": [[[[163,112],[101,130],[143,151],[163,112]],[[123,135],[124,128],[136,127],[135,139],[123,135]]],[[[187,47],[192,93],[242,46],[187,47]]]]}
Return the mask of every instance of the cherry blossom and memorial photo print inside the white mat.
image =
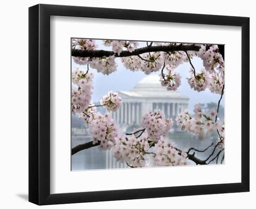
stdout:
{"type": "Polygon", "coordinates": [[[71,170],[221,166],[224,74],[224,45],[71,38],[71,170]]]}

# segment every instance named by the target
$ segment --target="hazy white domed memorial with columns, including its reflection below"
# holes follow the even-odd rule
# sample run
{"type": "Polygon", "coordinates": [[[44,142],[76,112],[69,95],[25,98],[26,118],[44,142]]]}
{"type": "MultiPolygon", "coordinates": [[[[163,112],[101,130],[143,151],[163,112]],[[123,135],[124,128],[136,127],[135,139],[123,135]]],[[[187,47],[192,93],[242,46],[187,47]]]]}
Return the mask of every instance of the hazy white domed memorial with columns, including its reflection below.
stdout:
{"type": "MultiPolygon", "coordinates": [[[[129,127],[141,127],[141,118],[148,111],[162,110],[165,118],[173,118],[189,107],[189,98],[178,91],[168,91],[160,83],[159,75],[148,75],[142,78],[131,91],[118,91],[122,104],[118,111],[111,112],[112,118],[119,124],[121,131],[129,127]]],[[[128,132],[133,131],[133,129],[128,132]]],[[[116,162],[111,151],[106,152],[106,169],[124,168],[116,162]]]]}

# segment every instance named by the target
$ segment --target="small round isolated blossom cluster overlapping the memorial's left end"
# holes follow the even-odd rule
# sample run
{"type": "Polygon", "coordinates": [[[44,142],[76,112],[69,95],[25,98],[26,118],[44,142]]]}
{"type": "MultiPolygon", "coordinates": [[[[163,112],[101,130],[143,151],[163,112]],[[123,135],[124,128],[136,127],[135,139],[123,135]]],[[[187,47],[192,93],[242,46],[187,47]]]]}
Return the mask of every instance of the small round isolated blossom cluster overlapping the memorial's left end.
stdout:
{"type": "Polygon", "coordinates": [[[122,103],[122,98],[118,96],[117,92],[109,91],[107,95],[101,98],[100,103],[108,111],[117,111],[122,103]]]}

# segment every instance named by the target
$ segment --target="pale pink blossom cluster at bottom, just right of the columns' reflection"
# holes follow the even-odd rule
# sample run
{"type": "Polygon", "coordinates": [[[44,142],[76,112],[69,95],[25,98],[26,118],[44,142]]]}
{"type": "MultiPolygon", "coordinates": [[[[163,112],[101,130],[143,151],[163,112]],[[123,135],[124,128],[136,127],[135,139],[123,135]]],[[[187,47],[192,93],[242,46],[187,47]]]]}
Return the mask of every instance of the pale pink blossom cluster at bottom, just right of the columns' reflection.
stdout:
{"type": "Polygon", "coordinates": [[[134,134],[116,137],[113,149],[117,160],[132,167],[144,167],[148,159],[148,134],[144,132],[141,137],[135,137],[134,134]]]}

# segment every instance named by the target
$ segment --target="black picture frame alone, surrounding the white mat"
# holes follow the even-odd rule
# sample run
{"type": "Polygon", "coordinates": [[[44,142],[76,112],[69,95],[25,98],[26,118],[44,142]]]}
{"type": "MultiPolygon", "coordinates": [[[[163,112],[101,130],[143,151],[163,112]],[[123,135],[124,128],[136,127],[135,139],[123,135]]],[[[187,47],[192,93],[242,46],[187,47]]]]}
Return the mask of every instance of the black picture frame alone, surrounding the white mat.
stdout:
{"type": "MultiPolygon", "coordinates": [[[[68,153],[69,154],[69,153],[68,153]]],[[[38,205],[249,191],[249,18],[60,5],[29,8],[29,202],[38,205]],[[50,16],[242,27],[241,183],[50,194],[50,16]]]]}

